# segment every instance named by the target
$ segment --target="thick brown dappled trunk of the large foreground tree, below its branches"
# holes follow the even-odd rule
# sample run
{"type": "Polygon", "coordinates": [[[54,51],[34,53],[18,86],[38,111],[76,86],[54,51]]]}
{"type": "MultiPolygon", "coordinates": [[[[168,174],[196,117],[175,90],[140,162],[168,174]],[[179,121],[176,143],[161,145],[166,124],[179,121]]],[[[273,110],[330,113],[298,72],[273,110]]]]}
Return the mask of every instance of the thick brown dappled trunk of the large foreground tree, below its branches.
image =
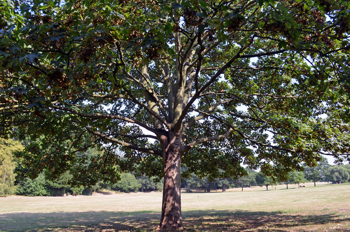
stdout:
{"type": "Polygon", "coordinates": [[[183,230],[181,216],[181,142],[170,138],[165,153],[162,217],[156,231],[183,230]]]}

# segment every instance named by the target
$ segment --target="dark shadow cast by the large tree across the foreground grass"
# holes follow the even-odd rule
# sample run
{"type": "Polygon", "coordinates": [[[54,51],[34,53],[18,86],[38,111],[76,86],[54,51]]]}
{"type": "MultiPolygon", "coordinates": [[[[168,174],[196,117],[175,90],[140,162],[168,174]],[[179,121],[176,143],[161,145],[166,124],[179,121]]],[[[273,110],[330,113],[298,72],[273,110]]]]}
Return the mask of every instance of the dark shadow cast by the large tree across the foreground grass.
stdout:
{"type": "MultiPolygon", "coordinates": [[[[305,228],[329,228],[346,224],[350,219],[340,218],[339,213],[315,215],[283,212],[194,210],[183,212],[183,224],[188,231],[255,231],[287,232],[305,228]],[[340,224],[339,224],[340,223],[340,224]]],[[[0,214],[0,232],[114,232],[154,231],[160,220],[160,212],[52,212],[0,214]]],[[[338,227],[340,228],[340,227],[338,227]]],[[[341,229],[342,229],[341,228],[341,229]]],[[[332,231],[345,231],[335,230],[332,231]]]]}

